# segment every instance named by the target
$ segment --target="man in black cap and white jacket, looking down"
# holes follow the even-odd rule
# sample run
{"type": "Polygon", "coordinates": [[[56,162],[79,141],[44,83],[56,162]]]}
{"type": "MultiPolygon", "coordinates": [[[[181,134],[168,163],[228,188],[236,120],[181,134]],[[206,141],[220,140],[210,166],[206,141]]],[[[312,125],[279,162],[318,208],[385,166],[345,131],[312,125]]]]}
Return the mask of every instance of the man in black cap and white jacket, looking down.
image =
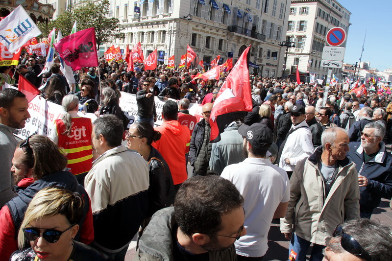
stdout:
{"type": "Polygon", "coordinates": [[[287,171],[289,177],[294,171],[297,162],[312,155],[312,132],[306,123],[305,108],[296,104],[290,111],[293,125],[286,136],[286,140],[279,149],[279,167],[287,171]]]}

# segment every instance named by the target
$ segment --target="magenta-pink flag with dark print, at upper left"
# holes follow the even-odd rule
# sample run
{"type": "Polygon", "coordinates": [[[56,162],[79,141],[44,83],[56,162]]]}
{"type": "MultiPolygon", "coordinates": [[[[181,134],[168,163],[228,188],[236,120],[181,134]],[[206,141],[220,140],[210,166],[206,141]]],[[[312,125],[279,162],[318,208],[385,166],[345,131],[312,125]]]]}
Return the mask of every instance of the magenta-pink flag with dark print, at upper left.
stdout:
{"type": "Polygon", "coordinates": [[[54,47],[73,71],[98,66],[94,27],[64,37],[54,47]]]}

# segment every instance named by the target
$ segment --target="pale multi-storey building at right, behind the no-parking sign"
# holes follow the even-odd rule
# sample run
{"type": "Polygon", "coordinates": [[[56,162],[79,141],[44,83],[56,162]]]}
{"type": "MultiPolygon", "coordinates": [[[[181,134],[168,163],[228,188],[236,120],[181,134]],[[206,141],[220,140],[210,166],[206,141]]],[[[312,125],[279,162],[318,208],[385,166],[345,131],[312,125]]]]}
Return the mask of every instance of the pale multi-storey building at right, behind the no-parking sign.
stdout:
{"type": "MultiPolygon", "coordinates": [[[[286,73],[298,71],[302,75],[316,74],[316,79],[326,79],[328,69],[322,67],[321,56],[329,29],[339,26],[348,35],[351,13],[336,0],[292,0],[286,40],[295,47],[288,50],[286,73]]],[[[347,41],[346,41],[347,42],[347,41]]],[[[346,43],[345,42],[345,43],[346,43]]],[[[341,47],[345,47],[345,43],[341,47]]],[[[341,69],[332,69],[342,78],[341,69]]],[[[307,81],[309,77],[304,77],[307,81]]]]}

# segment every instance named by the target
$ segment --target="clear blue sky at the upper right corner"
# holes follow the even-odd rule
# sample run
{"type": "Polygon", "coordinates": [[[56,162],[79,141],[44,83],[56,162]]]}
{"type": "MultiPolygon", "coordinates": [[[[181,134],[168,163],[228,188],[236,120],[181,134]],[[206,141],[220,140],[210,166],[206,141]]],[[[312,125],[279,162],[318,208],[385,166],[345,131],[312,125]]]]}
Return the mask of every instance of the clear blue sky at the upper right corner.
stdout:
{"type": "Polygon", "coordinates": [[[363,62],[370,68],[384,71],[392,67],[392,0],[338,0],[351,12],[350,27],[344,62],[355,64],[361,57],[361,48],[366,40],[363,62]]]}

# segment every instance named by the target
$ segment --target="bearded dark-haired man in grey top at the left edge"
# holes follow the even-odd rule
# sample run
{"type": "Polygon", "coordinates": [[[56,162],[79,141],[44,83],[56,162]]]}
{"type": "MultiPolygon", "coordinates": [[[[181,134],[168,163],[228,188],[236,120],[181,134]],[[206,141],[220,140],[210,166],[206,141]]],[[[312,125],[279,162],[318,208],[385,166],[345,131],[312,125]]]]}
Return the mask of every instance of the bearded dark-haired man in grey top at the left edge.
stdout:
{"type": "Polygon", "coordinates": [[[10,169],[18,142],[13,132],[25,127],[30,118],[26,96],[15,89],[0,91],[0,208],[15,196],[14,182],[10,169]]]}

